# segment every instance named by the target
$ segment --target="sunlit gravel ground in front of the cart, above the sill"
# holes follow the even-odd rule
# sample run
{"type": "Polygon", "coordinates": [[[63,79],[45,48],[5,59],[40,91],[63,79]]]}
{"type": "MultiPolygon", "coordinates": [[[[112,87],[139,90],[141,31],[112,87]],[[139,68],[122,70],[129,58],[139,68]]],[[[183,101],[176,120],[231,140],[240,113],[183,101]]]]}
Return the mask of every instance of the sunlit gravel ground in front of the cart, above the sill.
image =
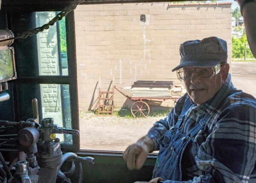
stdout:
{"type": "Polygon", "coordinates": [[[127,119],[118,116],[96,116],[85,113],[79,118],[80,148],[93,150],[124,151],[147,134],[160,117],[127,119]]]}

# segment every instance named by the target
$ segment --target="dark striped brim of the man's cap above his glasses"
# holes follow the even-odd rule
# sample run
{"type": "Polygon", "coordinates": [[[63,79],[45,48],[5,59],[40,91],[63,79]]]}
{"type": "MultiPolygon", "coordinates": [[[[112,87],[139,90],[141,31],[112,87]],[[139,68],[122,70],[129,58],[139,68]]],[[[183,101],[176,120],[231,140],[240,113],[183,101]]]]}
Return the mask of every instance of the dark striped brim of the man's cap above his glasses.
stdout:
{"type": "Polygon", "coordinates": [[[172,72],[181,68],[212,67],[220,63],[221,61],[184,61],[183,63],[175,67],[172,72]]]}

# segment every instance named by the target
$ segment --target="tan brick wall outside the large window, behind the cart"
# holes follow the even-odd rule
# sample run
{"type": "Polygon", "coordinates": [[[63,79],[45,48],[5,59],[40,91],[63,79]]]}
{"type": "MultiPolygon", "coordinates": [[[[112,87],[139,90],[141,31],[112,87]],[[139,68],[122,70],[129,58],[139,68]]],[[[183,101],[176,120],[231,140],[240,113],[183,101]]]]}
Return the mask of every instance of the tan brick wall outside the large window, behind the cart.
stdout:
{"type": "MultiPolygon", "coordinates": [[[[113,84],[130,95],[137,80],[174,81],[179,46],[218,36],[227,41],[231,62],[231,4],[129,3],[81,5],[75,10],[79,110],[96,105],[99,87],[113,84]],[[146,21],[140,21],[145,15],[146,21]]],[[[117,107],[130,105],[115,92],[117,107]]]]}

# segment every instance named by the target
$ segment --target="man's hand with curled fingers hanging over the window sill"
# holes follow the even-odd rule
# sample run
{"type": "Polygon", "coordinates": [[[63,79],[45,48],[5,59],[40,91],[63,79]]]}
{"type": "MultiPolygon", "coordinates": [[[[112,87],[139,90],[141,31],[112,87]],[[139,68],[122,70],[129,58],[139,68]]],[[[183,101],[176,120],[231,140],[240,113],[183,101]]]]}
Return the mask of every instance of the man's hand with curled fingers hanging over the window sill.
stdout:
{"type": "Polygon", "coordinates": [[[154,144],[150,137],[145,135],[140,138],[135,144],[126,148],[123,158],[127,162],[129,170],[139,170],[148,157],[148,153],[154,150],[154,144]]]}

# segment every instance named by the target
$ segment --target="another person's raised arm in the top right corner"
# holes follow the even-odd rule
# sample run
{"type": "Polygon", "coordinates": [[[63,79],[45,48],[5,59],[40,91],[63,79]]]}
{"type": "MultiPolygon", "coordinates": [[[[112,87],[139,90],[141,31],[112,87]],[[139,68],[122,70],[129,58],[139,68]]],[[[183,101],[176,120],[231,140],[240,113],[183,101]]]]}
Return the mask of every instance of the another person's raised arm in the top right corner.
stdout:
{"type": "MultiPolygon", "coordinates": [[[[245,0],[237,0],[239,6],[245,0]]],[[[256,3],[247,3],[243,8],[244,26],[247,36],[247,41],[253,56],[256,58],[256,3]]]]}

